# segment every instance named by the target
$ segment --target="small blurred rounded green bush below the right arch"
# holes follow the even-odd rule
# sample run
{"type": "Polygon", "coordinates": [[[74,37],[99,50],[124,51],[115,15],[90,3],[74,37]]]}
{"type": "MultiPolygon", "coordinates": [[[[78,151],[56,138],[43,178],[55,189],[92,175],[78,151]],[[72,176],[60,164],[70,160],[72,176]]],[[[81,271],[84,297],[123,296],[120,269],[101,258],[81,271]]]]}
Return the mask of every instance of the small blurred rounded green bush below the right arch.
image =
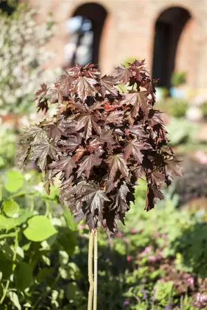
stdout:
{"type": "Polygon", "coordinates": [[[157,108],[173,117],[183,117],[188,109],[188,101],[180,98],[166,98],[157,103],[157,108]]]}

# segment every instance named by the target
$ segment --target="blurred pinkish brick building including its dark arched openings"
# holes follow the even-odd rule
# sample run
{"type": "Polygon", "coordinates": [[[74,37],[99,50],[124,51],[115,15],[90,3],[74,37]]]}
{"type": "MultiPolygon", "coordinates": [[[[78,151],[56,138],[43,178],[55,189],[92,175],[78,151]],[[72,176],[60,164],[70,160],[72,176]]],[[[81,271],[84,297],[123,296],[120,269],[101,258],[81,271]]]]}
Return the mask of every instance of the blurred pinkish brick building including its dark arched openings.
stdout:
{"type": "Polygon", "coordinates": [[[41,9],[42,20],[53,14],[56,29],[50,49],[58,57],[52,65],[66,62],[66,22],[81,16],[92,25],[89,58],[103,72],[137,57],[146,59],[161,86],[170,85],[175,70],[187,72],[188,87],[207,87],[207,0],[28,1],[41,9]]]}

